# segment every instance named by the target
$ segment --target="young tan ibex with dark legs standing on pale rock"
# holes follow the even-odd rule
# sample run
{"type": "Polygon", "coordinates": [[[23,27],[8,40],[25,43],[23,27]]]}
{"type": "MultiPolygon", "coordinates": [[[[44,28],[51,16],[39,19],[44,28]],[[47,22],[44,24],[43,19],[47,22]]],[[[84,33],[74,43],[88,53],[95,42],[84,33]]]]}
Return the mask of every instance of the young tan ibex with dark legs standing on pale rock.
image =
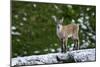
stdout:
{"type": "Polygon", "coordinates": [[[61,42],[61,52],[66,52],[67,50],[67,41],[68,38],[71,37],[74,42],[74,50],[79,49],[79,24],[68,24],[62,25],[63,18],[58,20],[55,16],[52,16],[56,23],[56,33],[61,42]]]}

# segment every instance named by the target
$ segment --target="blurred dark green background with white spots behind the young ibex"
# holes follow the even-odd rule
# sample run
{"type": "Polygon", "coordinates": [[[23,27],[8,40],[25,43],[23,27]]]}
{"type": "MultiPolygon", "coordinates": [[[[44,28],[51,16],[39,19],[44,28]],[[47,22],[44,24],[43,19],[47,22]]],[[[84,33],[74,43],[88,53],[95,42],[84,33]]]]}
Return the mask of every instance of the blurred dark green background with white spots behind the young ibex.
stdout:
{"type": "Polygon", "coordinates": [[[12,1],[11,14],[12,57],[59,51],[52,16],[80,24],[80,49],[96,47],[96,6],[12,1]]]}

